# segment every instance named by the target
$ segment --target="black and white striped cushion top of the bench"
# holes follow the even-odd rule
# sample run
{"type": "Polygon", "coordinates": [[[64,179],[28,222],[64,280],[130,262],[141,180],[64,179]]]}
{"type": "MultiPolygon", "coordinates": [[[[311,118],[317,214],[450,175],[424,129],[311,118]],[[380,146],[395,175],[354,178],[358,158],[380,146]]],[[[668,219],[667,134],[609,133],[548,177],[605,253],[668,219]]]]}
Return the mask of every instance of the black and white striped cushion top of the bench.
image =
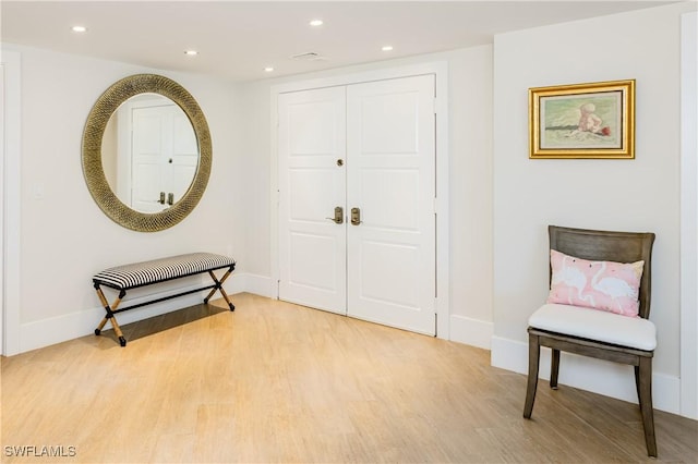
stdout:
{"type": "Polygon", "coordinates": [[[213,253],[190,253],[105,269],[93,282],[117,290],[134,289],[209,270],[234,267],[236,260],[213,253]]]}

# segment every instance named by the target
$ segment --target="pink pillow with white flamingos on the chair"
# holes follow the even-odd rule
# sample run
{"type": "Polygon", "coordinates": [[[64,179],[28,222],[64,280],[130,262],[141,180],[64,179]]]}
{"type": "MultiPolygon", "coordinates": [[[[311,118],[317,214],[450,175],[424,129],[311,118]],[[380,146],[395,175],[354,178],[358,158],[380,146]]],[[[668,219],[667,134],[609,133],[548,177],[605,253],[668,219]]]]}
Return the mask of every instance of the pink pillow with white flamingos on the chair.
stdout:
{"type": "Polygon", "coordinates": [[[588,261],[550,251],[553,276],[547,303],[637,317],[645,261],[588,261]]]}

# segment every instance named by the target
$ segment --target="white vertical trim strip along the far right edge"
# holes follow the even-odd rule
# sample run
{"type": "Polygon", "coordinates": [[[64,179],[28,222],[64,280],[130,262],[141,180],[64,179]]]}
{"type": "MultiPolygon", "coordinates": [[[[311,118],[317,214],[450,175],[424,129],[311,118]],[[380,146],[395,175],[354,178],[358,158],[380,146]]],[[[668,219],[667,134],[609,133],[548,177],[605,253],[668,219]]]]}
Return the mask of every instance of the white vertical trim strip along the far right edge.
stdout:
{"type": "Polygon", "coordinates": [[[681,415],[698,419],[698,12],[682,15],[681,415]]]}

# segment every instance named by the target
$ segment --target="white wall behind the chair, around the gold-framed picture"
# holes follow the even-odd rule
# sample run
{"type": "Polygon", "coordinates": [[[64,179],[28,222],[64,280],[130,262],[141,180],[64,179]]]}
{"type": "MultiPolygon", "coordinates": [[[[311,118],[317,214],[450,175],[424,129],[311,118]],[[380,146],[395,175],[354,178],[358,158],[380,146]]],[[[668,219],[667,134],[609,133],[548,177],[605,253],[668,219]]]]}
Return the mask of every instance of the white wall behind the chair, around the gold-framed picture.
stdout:
{"type": "MultiPolygon", "coordinates": [[[[681,3],[495,37],[495,366],[526,371],[527,318],[547,293],[547,224],[657,233],[655,407],[678,412],[681,3]],[[529,87],[636,80],[635,160],[529,160],[529,87]]],[[[562,383],[635,401],[630,368],[575,358],[562,383]]],[[[543,371],[543,369],[542,369],[543,371]]]]}

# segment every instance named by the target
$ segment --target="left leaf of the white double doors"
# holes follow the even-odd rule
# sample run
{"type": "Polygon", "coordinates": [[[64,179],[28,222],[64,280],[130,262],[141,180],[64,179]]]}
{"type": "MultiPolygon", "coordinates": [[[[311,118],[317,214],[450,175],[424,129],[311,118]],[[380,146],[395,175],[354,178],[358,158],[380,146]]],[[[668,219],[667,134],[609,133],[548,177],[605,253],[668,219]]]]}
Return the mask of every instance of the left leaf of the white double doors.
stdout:
{"type": "Polygon", "coordinates": [[[338,87],[282,94],[278,101],[279,298],[340,314],[346,228],[327,218],[346,200],[345,98],[338,87]]]}

